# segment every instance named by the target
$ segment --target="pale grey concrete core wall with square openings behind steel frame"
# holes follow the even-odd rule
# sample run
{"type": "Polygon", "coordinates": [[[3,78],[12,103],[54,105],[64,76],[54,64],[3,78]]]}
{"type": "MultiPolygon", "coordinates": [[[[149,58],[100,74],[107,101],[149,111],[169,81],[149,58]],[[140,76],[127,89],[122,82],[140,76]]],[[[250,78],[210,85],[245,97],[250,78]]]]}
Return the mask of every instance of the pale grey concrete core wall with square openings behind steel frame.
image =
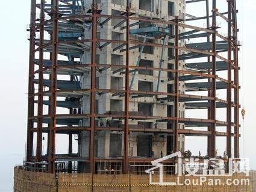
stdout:
{"type": "MultiPolygon", "coordinates": [[[[92,1],[85,1],[84,7],[90,8],[92,1]]],[[[126,1],[118,0],[101,0],[98,3],[98,7],[102,10],[101,14],[108,15],[120,15],[125,11],[126,1]]],[[[164,0],[158,2],[157,0],[132,0],[131,1],[131,11],[133,11],[136,17],[143,18],[158,18],[165,20],[172,20],[174,16],[180,15],[181,19],[184,19],[186,13],[186,5],[184,0],[164,0]],[[158,10],[158,11],[157,11],[158,10]]],[[[97,36],[99,39],[112,39],[112,40],[125,40],[125,29],[122,29],[124,24],[115,28],[114,26],[119,23],[118,19],[111,19],[110,22],[106,23],[104,26],[98,26],[97,36]]],[[[136,22],[136,21],[133,21],[136,22]]],[[[143,25],[136,25],[132,29],[143,28],[150,25],[150,23],[144,23],[143,25]]],[[[159,25],[163,27],[169,27],[167,25],[159,25]]],[[[173,28],[174,29],[174,28],[173,28]]],[[[180,33],[185,31],[184,28],[180,28],[180,33]]],[[[174,34],[174,30],[172,31],[174,34]]],[[[85,39],[90,39],[91,31],[87,30],[84,33],[85,39]]],[[[131,39],[136,40],[137,36],[131,35],[131,39]]],[[[149,39],[151,43],[161,43],[163,38],[149,39]]],[[[174,45],[173,39],[168,39],[165,42],[165,45],[174,45]]],[[[104,50],[97,50],[97,60],[101,64],[125,64],[125,52],[113,51],[113,48],[116,48],[117,43],[111,43],[111,46],[108,46],[104,50]]],[[[88,44],[90,46],[90,44],[88,44]]],[[[184,40],[180,41],[180,46],[184,46],[184,40]]],[[[147,47],[143,48],[139,66],[143,67],[158,67],[160,60],[162,60],[162,67],[164,69],[174,69],[174,60],[169,60],[169,57],[173,57],[174,49],[167,51],[164,49],[163,58],[161,59],[161,50],[160,47],[147,47]]],[[[183,51],[180,52],[183,54],[183,51]]],[[[140,49],[133,49],[130,51],[130,64],[136,64],[140,55],[140,49]]],[[[84,52],[81,57],[82,63],[90,63],[91,53],[84,52]]],[[[184,61],[180,61],[180,69],[185,70],[184,61]]],[[[110,68],[104,70],[100,75],[96,77],[96,83],[98,88],[102,89],[116,89],[123,90],[125,88],[125,78],[120,73],[115,73],[116,69],[110,68]]],[[[90,73],[90,72],[89,72],[90,73]]],[[[81,77],[81,87],[90,88],[90,74],[81,77]]],[[[173,81],[170,81],[169,72],[161,72],[159,90],[164,93],[173,92],[173,81]]],[[[130,75],[130,82],[132,81],[132,75],[130,75]]],[[[158,87],[158,71],[145,70],[135,73],[133,84],[131,90],[139,91],[157,91],[158,87]]],[[[184,82],[180,82],[180,93],[185,93],[184,82]]],[[[83,96],[82,99],[82,113],[90,113],[90,96],[83,96]]],[[[124,98],[120,96],[111,96],[110,94],[102,94],[101,96],[96,96],[96,111],[98,114],[106,113],[116,113],[120,114],[125,110],[124,98]]],[[[157,102],[156,97],[142,97],[136,99],[130,99],[130,111],[133,113],[140,113],[142,116],[161,116],[169,117],[173,116],[173,102],[157,102]]],[[[184,117],[184,103],[180,102],[180,117],[184,117]]],[[[89,120],[85,119],[80,122],[81,126],[89,126],[89,120]]],[[[123,120],[116,121],[102,120],[101,122],[96,122],[96,126],[111,126],[119,127],[123,126],[123,120]],[[108,125],[110,124],[110,125],[108,125]]],[[[171,123],[169,123],[171,124],[171,123]]],[[[136,128],[161,128],[161,129],[172,129],[173,125],[169,125],[167,122],[156,122],[156,120],[138,120],[130,122],[130,126],[136,128]]],[[[183,123],[179,125],[180,129],[184,129],[183,123]]],[[[173,140],[172,136],[167,137],[165,134],[150,134],[147,133],[148,137],[143,137],[145,133],[143,132],[131,132],[129,137],[129,156],[141,156],[152,157],[154,153],[155,158],[160,158],[161,156],[169,155],[173,151],[173,146],[168,146],[167,143],[171,143],[173,140]],[[147,147],[141,147],[147,146],[147,147]]],[[[78,153],[82,157],[89,156],[89,132],[83,131],[80,134],[78,153]]],[[[111,132],[111,131],[99,131],[96,135],[96,149],[95,154],[98,158],[118,158],[123,156],[123,134],[122,132],[111,132]],[[114,142],[111,142],[111,138],[114,142]],[[119,144],[117,144],[119,143],[119,144]],[[116,150],[116,152],[113,152],[116,150]]],[[[184,135],[179,135],[179,150],[184,150],[184,135]]]]}

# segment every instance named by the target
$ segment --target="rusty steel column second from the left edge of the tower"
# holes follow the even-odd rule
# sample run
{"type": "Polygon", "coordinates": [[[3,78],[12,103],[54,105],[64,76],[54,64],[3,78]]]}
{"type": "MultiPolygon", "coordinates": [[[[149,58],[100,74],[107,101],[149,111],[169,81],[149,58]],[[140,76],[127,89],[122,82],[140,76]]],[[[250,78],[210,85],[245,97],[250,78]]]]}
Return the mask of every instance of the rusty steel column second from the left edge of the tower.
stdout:
{"type": "Polygon", "coordinates": [[[37,102],[37,149],[36,161],[42,161],[42,126],[43,126],[43,43],[45,26],[45,0],[41,0],[40,6],[40,40],[39,40],[39,83],[38,83],[38,102],[37,102]]]}

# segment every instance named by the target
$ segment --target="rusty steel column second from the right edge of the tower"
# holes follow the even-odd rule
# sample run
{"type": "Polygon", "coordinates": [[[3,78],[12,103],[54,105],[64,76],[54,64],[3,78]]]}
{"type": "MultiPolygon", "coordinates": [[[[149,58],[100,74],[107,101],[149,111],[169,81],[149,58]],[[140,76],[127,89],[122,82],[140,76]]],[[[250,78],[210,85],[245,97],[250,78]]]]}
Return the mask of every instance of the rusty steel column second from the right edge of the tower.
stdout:
{"type": "Polygon", "coordinates": [[[228,1],[228,87],[226,90],[226,101],[228,104],[226,105],[226,122],[228,125],[226,126],[226,155],[231,158],[231,97],[232,97],[232,5],[231,1],[228,1]]]}

